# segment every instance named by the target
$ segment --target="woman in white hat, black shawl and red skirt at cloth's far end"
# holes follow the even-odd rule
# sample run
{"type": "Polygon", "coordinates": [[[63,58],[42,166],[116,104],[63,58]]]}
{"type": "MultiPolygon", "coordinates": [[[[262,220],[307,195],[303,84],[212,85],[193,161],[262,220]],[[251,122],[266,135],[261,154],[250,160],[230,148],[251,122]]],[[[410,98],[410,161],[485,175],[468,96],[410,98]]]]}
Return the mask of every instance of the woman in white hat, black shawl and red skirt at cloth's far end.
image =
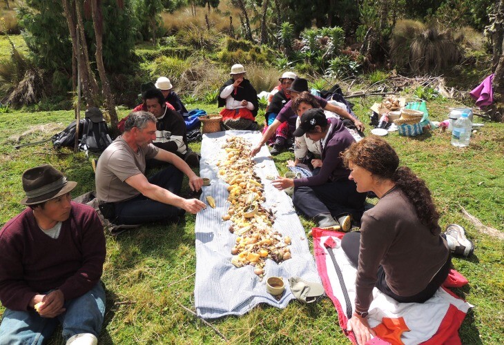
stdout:
{"type": "Polygon", "coordinates": [[[239,63],[231,67],[231,79],[219,90],[217,99],[224,130],[258,130],[255,115],[258,114],[258,92],[245,79],[245,68],[239,63]]]}

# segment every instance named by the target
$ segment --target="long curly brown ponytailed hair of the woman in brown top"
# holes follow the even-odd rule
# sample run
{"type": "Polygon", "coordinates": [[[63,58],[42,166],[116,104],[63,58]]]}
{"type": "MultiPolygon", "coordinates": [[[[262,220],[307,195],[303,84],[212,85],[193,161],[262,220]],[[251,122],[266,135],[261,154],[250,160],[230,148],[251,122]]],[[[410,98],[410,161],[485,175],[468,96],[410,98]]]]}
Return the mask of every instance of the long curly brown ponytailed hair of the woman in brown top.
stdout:
{"type": "Polygon", "coordinates": [[[429,188],[410,168],[399,167],[399,157],[387,141],[378,137],[365,137],[358,143],[351,144],[341,155],[345,166],[351,161],[373,175],[394,181],[413,204],[420,222],[432,234],[439,235],[439,213],[429,188]]]}

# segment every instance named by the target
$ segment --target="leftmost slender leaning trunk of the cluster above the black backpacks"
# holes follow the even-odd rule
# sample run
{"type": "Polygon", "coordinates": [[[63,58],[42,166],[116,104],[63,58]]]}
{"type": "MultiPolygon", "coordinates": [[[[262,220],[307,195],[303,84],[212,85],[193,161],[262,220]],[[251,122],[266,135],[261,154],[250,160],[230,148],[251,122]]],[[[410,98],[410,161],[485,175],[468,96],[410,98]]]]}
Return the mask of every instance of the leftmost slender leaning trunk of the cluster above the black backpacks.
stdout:
{"type": "Polygon", "coordinates": [[[86,101],[88,101],[90,106],[96,106],[95,99],[98,93],[98,85],[96,83],[95,77],[93,76],[92,73],[90,73],[89,59],[87,58],[87,55],[86,56],[84,55],[84,50],[82,49],[82,46],[83,45],[85,46],[86,43],[85,41],[81,44],[77,43],[77,34],[79,33],[77,32],[77,26],[75,23],[75,16],[76,16],[75,3],[72,2],[72,6],[70,6],[68,0],[63,0],[62,2],[66,22],[68,23],[70,38],[72,39],[73,55],[76,60],[77,55],[80,55],[80,59],[78,59],[78,61],[79,61],[79,69],[81,71],[82,92],[84,93],[84,97],[86,97],[86,101]]]}

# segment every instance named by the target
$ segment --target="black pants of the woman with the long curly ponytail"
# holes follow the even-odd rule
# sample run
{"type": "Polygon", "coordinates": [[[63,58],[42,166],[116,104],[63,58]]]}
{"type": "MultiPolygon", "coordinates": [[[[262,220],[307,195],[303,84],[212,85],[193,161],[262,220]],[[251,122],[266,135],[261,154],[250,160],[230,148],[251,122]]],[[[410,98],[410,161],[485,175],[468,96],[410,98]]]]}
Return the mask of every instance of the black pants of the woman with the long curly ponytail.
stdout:
{"type": "MultiPolygon", "coordinates": [[[[345,254],[349,258],[351,264],[354,267],[358,266],[359,263],[359,251],[360,251],[360,232],[356,231],[353,233],[347,233],[343,236],[341,241],[341,248],[345,251],[345,254]]],[[[427,299],[434,296],[434,293],[438,290],[438,288],[445,282],[446,277],[448,277],[450,266],[452,265],[452,255],[448,256],[446,263],[443,267],[440,268],[438,273],[434,275],[432,280],[425,286],[425,288],[413,296],[399,296],[396,295],[387,285],[385,281],[385,270],[380,265],[378,266],[378,280],[376,281],[376,288],[380,290],[385,295],[394,298],[397,302],[400,303],[423,303],[427,301],[427,299]]]]}

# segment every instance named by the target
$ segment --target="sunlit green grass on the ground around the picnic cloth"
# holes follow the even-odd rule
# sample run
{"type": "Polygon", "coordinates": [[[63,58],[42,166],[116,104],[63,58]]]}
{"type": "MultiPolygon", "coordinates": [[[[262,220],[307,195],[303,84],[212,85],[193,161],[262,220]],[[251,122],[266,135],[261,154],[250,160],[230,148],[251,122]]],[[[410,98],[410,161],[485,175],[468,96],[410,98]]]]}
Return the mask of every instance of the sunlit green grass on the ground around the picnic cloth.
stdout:
{"type": "MultiPolygon", "coordinates": [[[[356,113],[367,124],[369,106],[378,99],[352,99],[356,113]]],[[[445,119],[452,103],[429,102],[432,119],[445,119]]],[[[215,106],[192,104],[217,112],[215,106]]],[[[123,111],[119,117],[127,114],[123,111]]],[[[21,173],[37,164],[50,163],[78,181],[75,196],[94,189],[94,175],[84,154],[57,152],[50,143],[15,150],[17,136],[33,130],[21,144],[45,139],[70,123],[70,111],[12,112],[0,115],[0,224],[17,215],[23,207],[21,173]],[[45,132],[37,126],[54,124],[45,132]]],[[[258,117],[262,123],[264,118],[258,117]]],[[[481,119],[477,118],[478,122],[481,119]]],[[[369,127],[369,126],[368,126],[369,127]]],[[[369,133],[369,128],[367,129],[369,133]]],[[[465,226],[476,245],[470,259],[454,258],[455,268],[469,279],[456,293],[474,304],[461,326],[463,344],[504,342],[504,244],[478,233],[461,215],[459,205],[483,224],[504,230],[504,125],[485,122],[471,139],[469,148],[454,148],[449,134],[435,130],[418,138],[386,137],[396,148],[402,164],[410,166],[427,181],[441,213],[440,225],[465,226]]],[[[195,150],[200,145],[191,144],[195,150]]],[[[277,167],[286,171],[290,152],[275,157],[277,167]]],[[[308,230],[311,221],[302,219],[308,230]]],[[[106,321],[100,344],[200,344],[222,343],[211,328],[184,311],[178,303],[194,310],[195,216],[186,216],[178,227],[142,226],[118,237],[107,236],[107,257],[103,281],[106,285],[106,321]]],[[[311,239],[310,239],[311,242],[311,239]]],[[[313,249],[313,246],[311,246],[313,249]]],[[[2,313],[3,309],[0,309],[2,313]]],[[[291,302],[283,310],[258,306],[242,317],[224,317],[212,322],[233,344],[348,344],[329,299],[315,306],[291,302]]],[[[50,344],[58,344],[59,335],[50,344]]]]}

